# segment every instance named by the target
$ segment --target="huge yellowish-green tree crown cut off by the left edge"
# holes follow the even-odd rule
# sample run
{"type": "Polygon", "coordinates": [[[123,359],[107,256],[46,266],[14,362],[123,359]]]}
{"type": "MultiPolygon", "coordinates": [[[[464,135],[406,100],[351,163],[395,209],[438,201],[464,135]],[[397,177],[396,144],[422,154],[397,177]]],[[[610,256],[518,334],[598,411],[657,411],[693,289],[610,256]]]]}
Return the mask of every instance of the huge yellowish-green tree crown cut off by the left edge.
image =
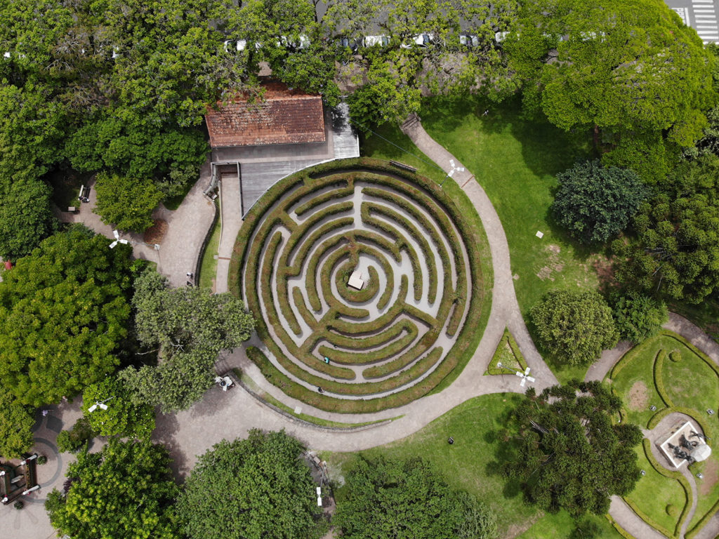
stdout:
{"type": "Polygon", "coordinates": [[[83,226],[42,241],[0,282],[0,384],[39,406],[72,397],[119,364],[132,285],[129,247],[83,226]]]}

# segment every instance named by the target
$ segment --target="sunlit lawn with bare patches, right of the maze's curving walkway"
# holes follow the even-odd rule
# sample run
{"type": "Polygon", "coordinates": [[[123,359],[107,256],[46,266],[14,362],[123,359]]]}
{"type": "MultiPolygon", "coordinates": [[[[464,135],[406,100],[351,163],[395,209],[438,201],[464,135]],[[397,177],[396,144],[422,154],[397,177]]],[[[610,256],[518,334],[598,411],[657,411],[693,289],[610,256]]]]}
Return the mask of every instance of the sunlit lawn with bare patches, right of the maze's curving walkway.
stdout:
{"type": "Polygon", "coordinates": [[[500,216],[523,315],[550,290],[595,290],[592,262],[598,254],[570,239],[549,216],[554,175],[589,157],[585,135],[521,119],[516,101],[489,106],[487,116],[480,114],[485,104],[428,103],[423,126],[475,175],[500,216]]]}

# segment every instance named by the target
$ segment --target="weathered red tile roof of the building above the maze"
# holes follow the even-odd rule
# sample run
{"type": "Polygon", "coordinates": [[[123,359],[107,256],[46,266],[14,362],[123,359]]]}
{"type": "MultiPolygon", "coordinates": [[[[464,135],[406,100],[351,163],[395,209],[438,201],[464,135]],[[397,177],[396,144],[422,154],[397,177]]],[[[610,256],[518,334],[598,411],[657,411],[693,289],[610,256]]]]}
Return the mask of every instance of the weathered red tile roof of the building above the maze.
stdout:
{"type": "Polygon", "coordinates": [[[321,96],[265,83],[262,101],[237,98],[205,115],[211,147],[324,142],[321,96]]]}

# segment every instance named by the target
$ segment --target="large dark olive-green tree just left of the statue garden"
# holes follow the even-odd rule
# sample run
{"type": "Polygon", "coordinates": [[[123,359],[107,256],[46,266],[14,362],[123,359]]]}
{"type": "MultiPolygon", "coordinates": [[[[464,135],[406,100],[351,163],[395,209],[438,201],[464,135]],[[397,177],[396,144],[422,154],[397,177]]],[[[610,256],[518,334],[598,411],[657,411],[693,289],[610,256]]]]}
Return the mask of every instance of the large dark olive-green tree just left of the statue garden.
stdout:
{"type": "Polygon", "coordinates": [[[620,407],[600,382],[572,380],[539,395],[527,390],[508,429],[517,442],[507,471],[529,502],[574,517],[603,515],[610,496],[631,492],[640,478],[634,447],[642,436],[636,425],[613,423],[620,407]]]}

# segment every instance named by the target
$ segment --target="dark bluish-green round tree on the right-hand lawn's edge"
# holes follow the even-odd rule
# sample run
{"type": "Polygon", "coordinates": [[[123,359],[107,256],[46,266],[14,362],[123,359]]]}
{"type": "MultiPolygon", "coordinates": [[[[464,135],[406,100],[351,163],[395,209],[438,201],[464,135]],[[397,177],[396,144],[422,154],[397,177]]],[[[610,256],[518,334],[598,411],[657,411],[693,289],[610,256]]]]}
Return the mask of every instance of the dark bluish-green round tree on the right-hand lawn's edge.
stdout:
{"type": "Polygon", "coordinates": [[[635,172],[580,162],[557,175],[551,213],[582,243],[604,243],[626,229],[647,196],[635,172]]]}

